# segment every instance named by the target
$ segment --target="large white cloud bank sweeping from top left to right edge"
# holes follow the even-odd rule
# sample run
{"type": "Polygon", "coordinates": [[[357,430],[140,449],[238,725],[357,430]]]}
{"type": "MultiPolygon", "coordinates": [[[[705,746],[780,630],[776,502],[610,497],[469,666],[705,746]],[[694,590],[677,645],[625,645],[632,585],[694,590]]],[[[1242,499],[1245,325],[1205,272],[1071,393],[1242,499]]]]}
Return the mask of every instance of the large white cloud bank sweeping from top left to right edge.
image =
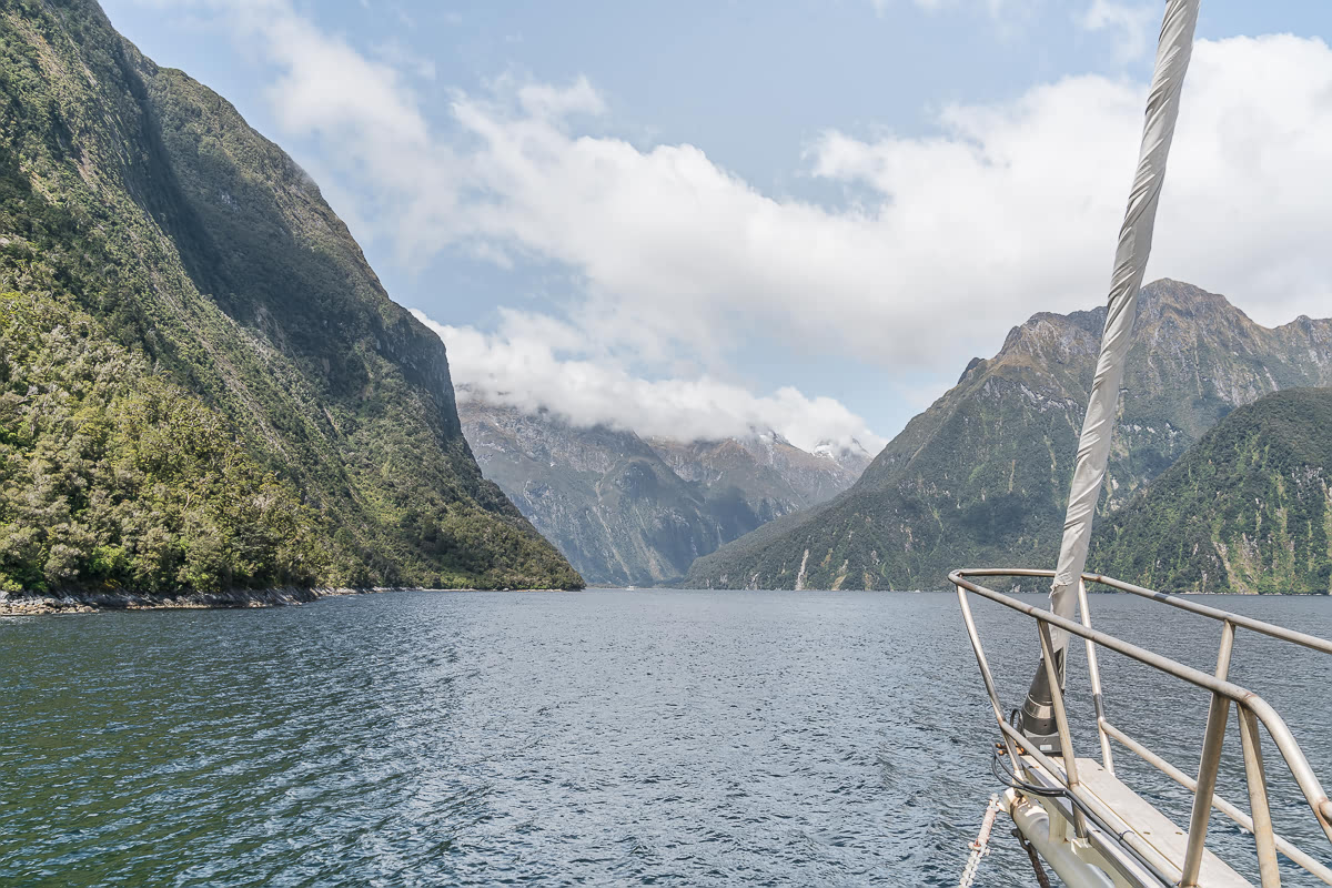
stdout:
{"type": "MultiPolygon", "coordinates": [[[[657,385],[626,354],[657,366],[685,358],[713,373],[675,391],[726,402],[709,379],[730,375],[738,339],[835,350],[888,378],[952,375],[1031,313],[1087,308],[1108,289],[1146,77],[1064,77],[1007,103],[951,105],[924,137],[827,132],[807,146],[807,172],[867,194],[834,208],[766,194],[694,145],[599,134],[611,114],[583,79],[457,93],[452,120],[432,124],[398,71],[282,0],[200,1],[225,9],[278,68],[281,125],[346,164],[377,196],[358,214],[405,253],[565,268],[582,296],[558,324],[589,351],[559,373],[605,371],[614,385],[597,390],[657,385]]],[[[1112,8],[1096,8],[1114,27],[1112,8]]],[[[1328,314],[1329,144],[1332,51],[1321,40],[1200,41],[1150,274],[1227,293],[1265,324],[1328,314]]],[[[477,366],[506,342],[488,341],[477,366]]]]}

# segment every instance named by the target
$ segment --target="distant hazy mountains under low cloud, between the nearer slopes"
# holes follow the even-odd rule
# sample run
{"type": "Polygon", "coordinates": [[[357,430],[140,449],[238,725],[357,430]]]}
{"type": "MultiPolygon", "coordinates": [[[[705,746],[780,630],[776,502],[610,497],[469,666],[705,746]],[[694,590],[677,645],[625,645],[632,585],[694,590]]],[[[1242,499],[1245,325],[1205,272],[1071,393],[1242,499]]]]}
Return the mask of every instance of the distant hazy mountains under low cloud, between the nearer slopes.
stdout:
{"type": "Polygon", "coordinates": [[[846,490],[859,474],[854,451],[839,461],[775,434],[643,441],[474,395],[458,413],[485,477],[590,583],[677,579],[699,555],[846,490]]]}

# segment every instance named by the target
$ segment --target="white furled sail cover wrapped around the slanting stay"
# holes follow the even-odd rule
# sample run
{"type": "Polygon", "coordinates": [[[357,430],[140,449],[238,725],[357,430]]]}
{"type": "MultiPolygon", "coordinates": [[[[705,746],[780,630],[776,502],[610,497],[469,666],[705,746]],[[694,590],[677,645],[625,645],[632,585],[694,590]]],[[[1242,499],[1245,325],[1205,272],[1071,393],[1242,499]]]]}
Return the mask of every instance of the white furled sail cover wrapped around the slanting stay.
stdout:
{"type": "MultiPolygon", "coordinates": [[[[1072,618],[1078,599],[1078,579],[1087,566],[1087,545],[1091,522],[1100,498],[1106,466],[1110,461],[1110,441],[1115,430],[1119,389],[1124,379],[1124,359],[1128,355],[1134,321],[1138,317],[1138,290],[1143,285],[1147,257],[1152,250],[1152,228],[1156,222],[1156,204],[1162,182],[1166,180],[1166,157],[1175,134],[1179,116],[1179,95],[1184,87],[1184,72],[1193,49],[1193,25],[1197,23],[1197,0],[1169,0],[1162,24],[1160,44],[1156,49],[1156,72],[1147,99],[1147,122],[1143,126],[1143,146],[1138,158],[1134,190],[1128,196],[1124,225],[1119,229],[1119,249],[1115,252],[1115,274],[1110,286],[1106,330],[1100,339],[1100,358],[1096,378],[1078,441],[1078,461],[1074,465],[1074,483],[1064,517],[1064,538],[1059,547],[1059,564],[1050,591],[1051,610],[1072,618]]],[[[1055,651],[1068,644],[1067,632],[1055,631],[1055,651]]],[[[1062,656],[1056,658],[1060,663],[1062,656]]]]}

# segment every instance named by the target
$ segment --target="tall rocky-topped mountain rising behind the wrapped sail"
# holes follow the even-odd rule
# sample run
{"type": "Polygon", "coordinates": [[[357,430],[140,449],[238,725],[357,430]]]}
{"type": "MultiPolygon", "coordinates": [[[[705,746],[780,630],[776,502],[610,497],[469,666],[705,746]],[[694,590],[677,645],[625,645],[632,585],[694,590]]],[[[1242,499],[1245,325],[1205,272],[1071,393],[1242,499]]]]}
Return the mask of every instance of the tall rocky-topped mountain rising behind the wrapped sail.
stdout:
{"type": "MultiPolygon", "coordinates": [[[[1106,310],[1042,313],[916,415],[846,493],[690,568],[701,587],[940,588],[964,566],[1054,564],[1106,310]]],[[[1232,409],[1332,385],[1332,321],[1253,324],[1176,281],[1143,288],[1100,510],[1232,409]]]]}

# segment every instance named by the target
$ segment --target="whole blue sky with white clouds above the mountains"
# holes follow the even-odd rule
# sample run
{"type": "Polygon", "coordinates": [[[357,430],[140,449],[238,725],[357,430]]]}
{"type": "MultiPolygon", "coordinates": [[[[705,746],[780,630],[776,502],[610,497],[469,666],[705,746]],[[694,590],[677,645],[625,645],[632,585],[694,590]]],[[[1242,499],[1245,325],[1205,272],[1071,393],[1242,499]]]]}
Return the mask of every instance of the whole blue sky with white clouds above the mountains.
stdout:
{"type": "MultiPolygon", "coordinates": [[[[1164,3],[103,5],[313,176],[468,391],[876,451],[1104,301],[1164,3]]],[[[1147,280],[1332,316],[1332,4],[1201,9],[1147,280]]]]}

